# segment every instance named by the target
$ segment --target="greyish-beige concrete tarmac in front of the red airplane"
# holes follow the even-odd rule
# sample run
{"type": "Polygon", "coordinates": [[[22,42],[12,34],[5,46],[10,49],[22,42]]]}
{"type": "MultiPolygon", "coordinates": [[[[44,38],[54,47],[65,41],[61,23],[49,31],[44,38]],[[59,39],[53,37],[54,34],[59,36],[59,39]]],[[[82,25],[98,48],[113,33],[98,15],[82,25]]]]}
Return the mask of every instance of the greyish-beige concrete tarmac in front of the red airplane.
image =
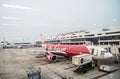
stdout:
{"type": "Polygon", "coordinates": [[[75,73],[71,60],[64,58],[50,62],[46,57],[36,58],[35,56],[42,54],[38,50],[44,49],[0,49],[0,79],[27,79],[26,71],[29,68],[41,68],[41,79],[97,79],[110,74],[99,71],[97,67],[85,74],[75,73]]]}

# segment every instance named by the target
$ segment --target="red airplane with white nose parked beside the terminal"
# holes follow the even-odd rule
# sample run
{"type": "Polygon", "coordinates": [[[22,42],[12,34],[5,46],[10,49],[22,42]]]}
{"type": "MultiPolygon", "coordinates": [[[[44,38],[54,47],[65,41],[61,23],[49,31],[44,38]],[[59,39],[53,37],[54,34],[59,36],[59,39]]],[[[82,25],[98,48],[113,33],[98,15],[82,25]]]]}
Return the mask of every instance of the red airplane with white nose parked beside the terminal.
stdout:
{"type": "Polygon", "coordinates": [[[55,61],[58,56],[70,58],[76,55],[91,54],[94,60],[112,58],[113,55],[105,48],[87,45],[62,45],[43,44],[46,52],[45,56],[50,61],[55,61]]]}

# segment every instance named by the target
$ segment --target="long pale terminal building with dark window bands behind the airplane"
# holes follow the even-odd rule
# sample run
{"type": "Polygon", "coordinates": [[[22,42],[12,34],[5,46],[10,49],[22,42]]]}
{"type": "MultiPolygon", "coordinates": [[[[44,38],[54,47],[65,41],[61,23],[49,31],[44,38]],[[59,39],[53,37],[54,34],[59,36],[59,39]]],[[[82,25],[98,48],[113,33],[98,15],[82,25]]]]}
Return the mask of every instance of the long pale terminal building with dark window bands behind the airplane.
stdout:
{"type": "Polygon", "coordinates": [[[120,27],[93,29],[90,31],[80,30],[58,34],[47,39],[46,43],[70,45],[120,45],[120,27]]]}

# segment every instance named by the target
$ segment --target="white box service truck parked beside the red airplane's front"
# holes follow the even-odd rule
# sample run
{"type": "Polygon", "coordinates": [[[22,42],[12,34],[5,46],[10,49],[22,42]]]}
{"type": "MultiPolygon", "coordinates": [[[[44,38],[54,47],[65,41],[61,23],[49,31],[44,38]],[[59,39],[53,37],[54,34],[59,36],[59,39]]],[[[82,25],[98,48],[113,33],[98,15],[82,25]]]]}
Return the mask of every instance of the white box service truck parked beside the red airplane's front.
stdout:
{"type": "Polygon", "coordinates": [[[94,69],[95,64],[92,60],[92,55],[83,54],[72,57],[72,64],[77,66],[74,72],[86,73],[88,70],[94,69]]]}

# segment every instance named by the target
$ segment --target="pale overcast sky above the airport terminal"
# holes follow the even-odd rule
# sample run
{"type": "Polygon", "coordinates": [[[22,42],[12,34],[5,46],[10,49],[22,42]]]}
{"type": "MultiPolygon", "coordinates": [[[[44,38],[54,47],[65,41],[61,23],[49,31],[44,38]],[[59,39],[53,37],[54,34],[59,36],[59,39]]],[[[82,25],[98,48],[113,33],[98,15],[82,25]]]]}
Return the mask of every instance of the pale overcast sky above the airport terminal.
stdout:
{"type": "Polygon", "coordinates": [[[0,0],[0,41],[120,26],[120,0],[0,0]]]}

